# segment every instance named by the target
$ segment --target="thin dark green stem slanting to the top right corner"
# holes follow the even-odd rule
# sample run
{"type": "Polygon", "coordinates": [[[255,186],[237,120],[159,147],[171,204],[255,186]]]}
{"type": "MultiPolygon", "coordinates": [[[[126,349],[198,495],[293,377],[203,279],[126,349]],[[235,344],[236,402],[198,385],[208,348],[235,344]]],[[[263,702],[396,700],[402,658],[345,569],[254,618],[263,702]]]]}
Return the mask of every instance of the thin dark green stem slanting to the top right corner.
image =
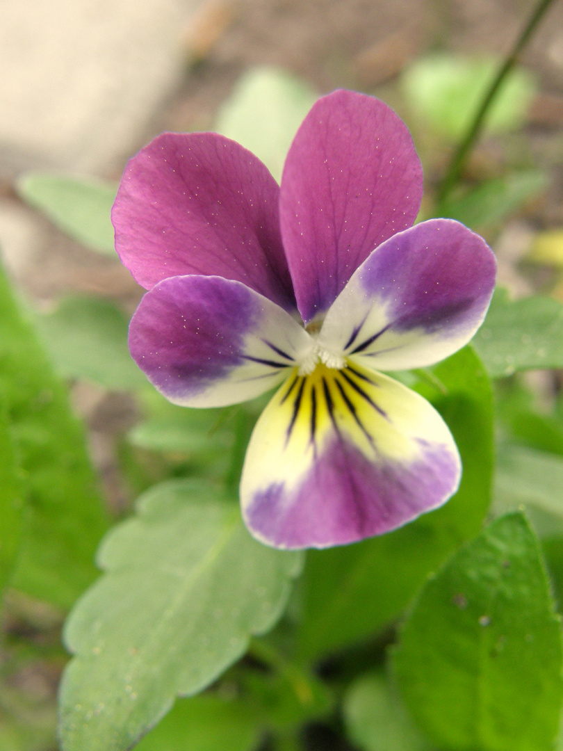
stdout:
{"type": "Polygon", "coordinates": [[[453,156],[450,160],[450,167],[448,167],[447,173],[444,176],[444,179],[442,180],[441,185],[438,189],[438,206],[439,204],[442,204],[444,202],[445,198],[447,198],[447,196],[450,194],[451,189],[456,184],[457,179],[459,178],[459,173],[461,173],[462,168],[465,165],[465,161],[467,161],[468,155],[471,152],[471,149],[477,141],[477,138],[480,136],[480,133],[483,129],[483,122],[486,113],[489,111],[489,107],[494,101],[498,89],[501,87],[501,84],[504,83],[504,79],[514,67],[519,54],[528,43],[531,35],[534,32],[534,29],[540,22],[543,14],[545,14],[547,9],[549,8],[549,5],[552,5],[552,2],[554,2],[554,0],[540,0],[540,2],[538,2],[536,8],[534,8],[534,12],[528,19],[528,23],[526,23],[524,29],[522,29],[522,33],[516,40],[512,51],[504,60],[501,67],[498,68],[498,73],[496,74],[495,79],[492,81],[489,90],[486,92],[486,95],[484,96],[479,110],[477,110],[477,113],[475,114],[473,122],[471,122],[471,125],[469,126],[468,131],[465,134],[465,137],[462,138],[456,151],[453,152],[453,156]]]}

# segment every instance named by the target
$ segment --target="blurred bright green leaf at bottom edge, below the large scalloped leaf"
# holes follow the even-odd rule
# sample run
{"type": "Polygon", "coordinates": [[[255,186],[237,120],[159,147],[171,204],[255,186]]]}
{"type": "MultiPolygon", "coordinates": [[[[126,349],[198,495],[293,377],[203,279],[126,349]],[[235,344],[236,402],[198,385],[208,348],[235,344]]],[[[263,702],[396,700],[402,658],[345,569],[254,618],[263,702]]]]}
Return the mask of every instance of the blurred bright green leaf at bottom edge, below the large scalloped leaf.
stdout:
{"type": "Polygon", "coordinates": [[[135,751],[252,751],[260,721],[242,701],[202,694],[179,699],[135,751]]]}

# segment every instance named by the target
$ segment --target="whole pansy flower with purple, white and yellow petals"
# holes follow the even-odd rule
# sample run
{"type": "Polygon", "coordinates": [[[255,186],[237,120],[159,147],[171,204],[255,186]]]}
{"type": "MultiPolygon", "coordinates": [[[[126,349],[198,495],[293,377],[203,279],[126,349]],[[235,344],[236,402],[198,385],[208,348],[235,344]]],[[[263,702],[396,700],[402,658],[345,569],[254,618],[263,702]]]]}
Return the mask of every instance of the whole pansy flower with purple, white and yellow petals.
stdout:
{"type": "Polygon", "coordinates": [[[242,469],[242,514],[275,547],[388,532],[459,484],[438,412],[381,371],[429,366],[483,321],[495,259],[458,222],[414,225],[423,175],[381,101],[317,101],[281,177],[215,133],[164,133],[131,159],[116,249],[148,292],[129,346],[173,403],[277,387],[242,469]]]}

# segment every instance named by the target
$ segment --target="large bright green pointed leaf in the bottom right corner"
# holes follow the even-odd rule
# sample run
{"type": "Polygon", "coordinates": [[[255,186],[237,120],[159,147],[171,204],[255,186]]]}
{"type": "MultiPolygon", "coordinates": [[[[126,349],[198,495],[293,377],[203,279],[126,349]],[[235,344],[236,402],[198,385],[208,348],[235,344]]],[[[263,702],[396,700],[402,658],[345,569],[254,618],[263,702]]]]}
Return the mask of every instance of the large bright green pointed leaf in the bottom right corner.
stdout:
{"type": "Polygon", "coordinates": [[[493,522],[426,584],[394,659],[403,698],[456,751],[549,751],[561,626],[522,514],[493,522]]]}

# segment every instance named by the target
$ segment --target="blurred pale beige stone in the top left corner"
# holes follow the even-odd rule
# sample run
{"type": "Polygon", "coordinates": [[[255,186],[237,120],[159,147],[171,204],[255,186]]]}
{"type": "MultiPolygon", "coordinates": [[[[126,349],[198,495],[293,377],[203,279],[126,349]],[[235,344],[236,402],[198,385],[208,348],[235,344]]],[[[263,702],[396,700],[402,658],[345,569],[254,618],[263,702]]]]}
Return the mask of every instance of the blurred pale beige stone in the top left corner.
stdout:
{"type": "Polygon", "coordinates": [[[202,0],[2,0],[0,170],[100,173],[125,158],[185,65],[202,0]]]}

